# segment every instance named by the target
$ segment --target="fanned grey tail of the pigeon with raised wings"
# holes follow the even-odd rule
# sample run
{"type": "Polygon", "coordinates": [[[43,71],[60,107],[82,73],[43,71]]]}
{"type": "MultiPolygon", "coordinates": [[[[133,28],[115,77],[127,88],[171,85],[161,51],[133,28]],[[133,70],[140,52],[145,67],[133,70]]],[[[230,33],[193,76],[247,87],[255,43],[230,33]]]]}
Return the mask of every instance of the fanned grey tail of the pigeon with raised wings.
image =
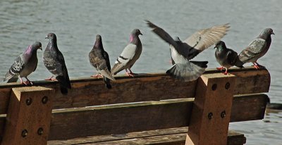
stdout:
{"type": "Polygon", "coordinates": [[[185,82],[197,80],[197,78],[200,77],[207,68],[207,63],[207,61],[188,61],[187,63],[176,63],[166,71],[166,74],[185,82]]]}

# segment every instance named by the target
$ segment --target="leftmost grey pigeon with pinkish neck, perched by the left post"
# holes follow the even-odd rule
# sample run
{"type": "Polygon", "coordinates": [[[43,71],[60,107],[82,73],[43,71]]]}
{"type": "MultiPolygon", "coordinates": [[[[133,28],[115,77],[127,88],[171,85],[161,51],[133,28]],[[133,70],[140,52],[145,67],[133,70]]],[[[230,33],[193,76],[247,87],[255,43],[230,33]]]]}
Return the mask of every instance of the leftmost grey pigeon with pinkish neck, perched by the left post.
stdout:
{"type": "Polygon", "coordinates": [[[20,78],[21,84],[32,84],[32,82],[27,79],[27,76],[37,68],[37,49],[42,50],[42,44],[40,42],[35,42],[28,46],[27,49],[13,62],[10,70],[8,70],[8,73],[5,75],[4,81],[17,82],[18,78],[20,78]],[[25,78],[26,82],[23,81],[22,77],[25,78]]]}

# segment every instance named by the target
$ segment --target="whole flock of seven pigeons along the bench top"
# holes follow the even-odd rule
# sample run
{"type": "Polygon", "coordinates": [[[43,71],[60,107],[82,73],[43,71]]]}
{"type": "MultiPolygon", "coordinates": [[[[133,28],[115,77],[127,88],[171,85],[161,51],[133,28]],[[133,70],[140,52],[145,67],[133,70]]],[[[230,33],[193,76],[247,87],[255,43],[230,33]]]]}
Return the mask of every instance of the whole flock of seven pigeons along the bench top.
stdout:
{"type": "MultiPolygon", "coordinates": [[[[207,61],[190,60],[214,44],[214,48],[216,48],[216,61],[221,65],[221,68],[217,69],[225,69],[226,71],[223,72],[225,75],[228,75],[228,68],[234,65],[243,68],[244,63],[253,63],[255,68],[258,69],[262,65],[257,63],[257,59],[264,56],[266,51],[268,51],[271,44],[271,34],[274,34],[271,28],[264,29],[262,33],[238,55],[238,53],[232,49],[226,48],[226,44],[221,41],[224,35],[226,35],[226,32],[228,32],[228,28],[230,27],[228,24],[198,30],[184,41],[181,41],[179,37],[173,39],[161,27],[154,25],[149,20],[146,20],[146,22],[155,34],[169,44],[172,67],[169,68],[166,73],[183,81],[196,80],[204,73],[205,68],[207,68],[207,61]]],[[[121,70],[125,70],[126,75],[134,77],[135,73],[133,73],[131,68],[142,53],[142,44],[139,39],[140,34],[142,35],[138,29],[130,33],[130,42],[116,59],[113,68],[111,68],[108,53],[104,51],[102,37],[97,34],[96,42],[89,53],[90,63],[97,70],[97,75],[92,75],[92,77],[103,77],[106,87],[109,89],[111,89],[110,80],[115,80],[113,75],[121,72],[121,70]]],[[[68,94],[68,89],[71,89],[71,82],[68,77],[68,70],[63,54],[59,51],[57,46],[56,34],[49,33],[45,39],[49,39],[49,43],[43,53],[43,61],[49,72],[53,74],[52,77],[47,80],[58,81],[61,93],[68,94]],[[53,78],[54,76],[56,79],[53,78]]],[[[27,49],[16,58],[16,61],[13,62],[10,70],[8,70],[8,73],[5,75],[4,81],[17,82],[18,78],[20,78],[22,84],[32,84],[32,82],[27,79],[27,76],[37,68],[37,49],[42,50],[42,44],[40,42],[35,42],[28,46],[27,49]],[[23,81],[23,77],[26,81],[23,81]]]]}

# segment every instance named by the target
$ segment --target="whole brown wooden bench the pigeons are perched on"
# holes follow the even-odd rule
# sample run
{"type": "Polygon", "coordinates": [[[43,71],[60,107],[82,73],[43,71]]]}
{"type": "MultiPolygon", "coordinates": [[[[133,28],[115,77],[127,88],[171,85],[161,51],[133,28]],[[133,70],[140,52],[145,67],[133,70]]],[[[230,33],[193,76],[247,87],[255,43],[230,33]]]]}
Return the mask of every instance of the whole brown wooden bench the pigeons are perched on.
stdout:
{"type": "Polygon", "coordinates": [[[0,85],[1,144],[245,144],[229,122],[261,120],[269,92],[266,69],[207,70],[181,82],[164,73],[0,85]],[[189,129],[188,129],[189,127],[189,129]]]}

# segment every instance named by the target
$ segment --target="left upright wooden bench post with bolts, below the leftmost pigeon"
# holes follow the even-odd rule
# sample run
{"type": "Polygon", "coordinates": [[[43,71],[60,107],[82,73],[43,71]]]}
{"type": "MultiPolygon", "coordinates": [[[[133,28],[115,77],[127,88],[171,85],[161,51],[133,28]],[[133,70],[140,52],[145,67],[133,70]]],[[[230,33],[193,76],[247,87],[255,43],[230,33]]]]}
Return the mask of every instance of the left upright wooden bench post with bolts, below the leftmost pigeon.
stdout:
{"type": "Polygon", "coordinates": [[[47,144],[54,89],[13,88],[2,145],[47,144]]]}

